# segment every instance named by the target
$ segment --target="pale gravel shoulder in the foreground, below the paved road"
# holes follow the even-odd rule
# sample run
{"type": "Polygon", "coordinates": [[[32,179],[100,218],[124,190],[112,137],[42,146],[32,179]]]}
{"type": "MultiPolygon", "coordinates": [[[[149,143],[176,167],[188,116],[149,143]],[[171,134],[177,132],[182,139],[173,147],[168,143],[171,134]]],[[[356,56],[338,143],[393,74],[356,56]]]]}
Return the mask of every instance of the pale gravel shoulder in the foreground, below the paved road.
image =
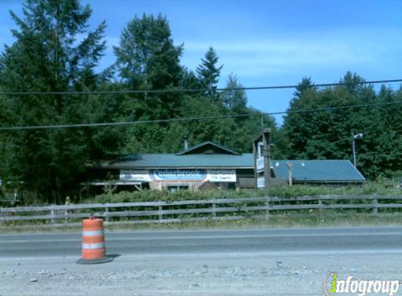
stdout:
{"type": "Polygon", "coordinates": [[[119,256],[0,260],[0,295],[323,295],[328,271],[345,278],[402,278],[402,253],[119,256]]]}

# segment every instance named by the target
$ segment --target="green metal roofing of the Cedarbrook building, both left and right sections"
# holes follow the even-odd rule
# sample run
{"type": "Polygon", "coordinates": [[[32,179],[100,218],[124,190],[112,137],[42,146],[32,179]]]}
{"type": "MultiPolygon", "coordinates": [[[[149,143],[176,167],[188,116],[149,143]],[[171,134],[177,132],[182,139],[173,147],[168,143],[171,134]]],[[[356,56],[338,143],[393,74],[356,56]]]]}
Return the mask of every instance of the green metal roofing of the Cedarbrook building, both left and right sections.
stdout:
{"type": "MultiPolygon", "coordinates": [[[[157,168],[248,168],[253,169],[253,154],[131,154],[117,156],[112,161],[93,164],[93,168],[145,170],[157,168]]],[[[288,179],[287,163],[292,163],[295,182],[363,182],[366,180],[350,161],[272,161],[277,179],[288,179]]]]}

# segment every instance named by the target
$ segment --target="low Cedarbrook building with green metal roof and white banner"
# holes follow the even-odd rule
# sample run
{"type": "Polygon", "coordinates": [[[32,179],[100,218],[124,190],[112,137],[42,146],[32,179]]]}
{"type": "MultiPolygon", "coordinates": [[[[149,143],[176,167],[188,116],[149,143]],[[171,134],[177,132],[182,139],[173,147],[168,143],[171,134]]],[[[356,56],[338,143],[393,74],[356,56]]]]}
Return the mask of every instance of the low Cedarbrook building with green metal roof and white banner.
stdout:
{"type": "MultiPolygon", "coordinates": [[[[255,188],[255,161],[251,153],[241,154],[213,142],[203,142],[177,154],[129,154],[97,161],[87,166],[87,188],[102,189],[114,184],[130,189],[240,189],[255,188]],[[107,180],[107,181],[106,181],[107,180]]],[[[365,178],[350,161],[271,161],[277,182],[304,184],[359,184],[365,178]],[[291,166],[290,166],[291,164],[291,166]]],[[[261,180],[258,180],[259,183],[261,180]]]]}

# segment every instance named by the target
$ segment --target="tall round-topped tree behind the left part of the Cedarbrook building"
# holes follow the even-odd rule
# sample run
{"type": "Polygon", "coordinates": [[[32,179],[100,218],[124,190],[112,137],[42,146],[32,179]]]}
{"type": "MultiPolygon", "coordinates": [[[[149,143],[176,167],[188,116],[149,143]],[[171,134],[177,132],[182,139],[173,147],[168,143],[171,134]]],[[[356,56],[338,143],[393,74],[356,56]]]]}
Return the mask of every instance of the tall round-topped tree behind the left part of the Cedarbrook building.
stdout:
{"type": "MultiPolygon", "coordinates": [[[[114,47],[119,83],[127,90],[194,86],[197,82],[194,74],[180,65],[182,51],[182,45],[173,43],[165,17],[135,16],[123,29],[119,46],[114,47]]],[[[184,112],[182,97],[182,93],[174,92],[126,95],[122,115],[129,121],[172,119],[184,112]]],[[[123,152],[170,152],[174,143],[161,145],[168,137],[168,130],[168,123],[131,126],[126,130],[129,136],[123,152]]]]}

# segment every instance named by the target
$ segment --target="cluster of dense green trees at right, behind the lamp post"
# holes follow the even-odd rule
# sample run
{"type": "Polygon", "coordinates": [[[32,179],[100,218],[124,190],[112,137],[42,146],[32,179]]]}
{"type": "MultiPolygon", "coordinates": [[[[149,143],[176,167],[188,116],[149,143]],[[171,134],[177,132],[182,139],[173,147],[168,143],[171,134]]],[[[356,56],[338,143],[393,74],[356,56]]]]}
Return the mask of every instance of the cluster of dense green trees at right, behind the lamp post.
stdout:
{"type": "MultiPolygon", "coordinates": [[[[401,174],[402,97],[382,86],[375,93],[364,79],[347,72],[330,88],[308,88],[295,93],[283,130],[290,142],[290,158],[351,159],[351,132],[356,140],[357,166],[370,179],[401,174]],[[380,103],[377,107],[354,105],[380,103]],[[332,109],[333,108],[333,109],[332,109]],[[309,109],[322,109],[304,112],[309,109]],[[326,110],[327,109],[327,110],[326,110]]],[[[307,83],[309,84],[309,83],[307,83]]]]}

